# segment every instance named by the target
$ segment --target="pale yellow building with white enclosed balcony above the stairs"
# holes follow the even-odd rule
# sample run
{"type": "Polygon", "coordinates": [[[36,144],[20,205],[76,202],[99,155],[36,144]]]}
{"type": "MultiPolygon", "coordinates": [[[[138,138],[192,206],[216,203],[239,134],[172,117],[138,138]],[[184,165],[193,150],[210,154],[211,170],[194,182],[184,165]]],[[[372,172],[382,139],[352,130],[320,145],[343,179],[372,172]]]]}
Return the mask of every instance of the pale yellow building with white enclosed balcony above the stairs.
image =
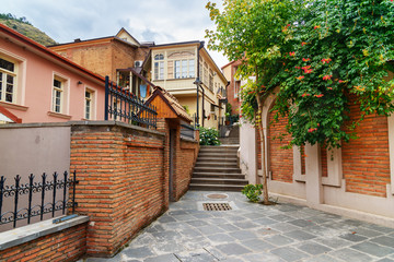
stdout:
{"type": "Polygon", "coordinates": [[[228,80],[204,41],[152,46],[150,59],[151,82],[174,95],[195,124],[198,118],[199,126],[218,129],[224,117],[228,80]]]}

